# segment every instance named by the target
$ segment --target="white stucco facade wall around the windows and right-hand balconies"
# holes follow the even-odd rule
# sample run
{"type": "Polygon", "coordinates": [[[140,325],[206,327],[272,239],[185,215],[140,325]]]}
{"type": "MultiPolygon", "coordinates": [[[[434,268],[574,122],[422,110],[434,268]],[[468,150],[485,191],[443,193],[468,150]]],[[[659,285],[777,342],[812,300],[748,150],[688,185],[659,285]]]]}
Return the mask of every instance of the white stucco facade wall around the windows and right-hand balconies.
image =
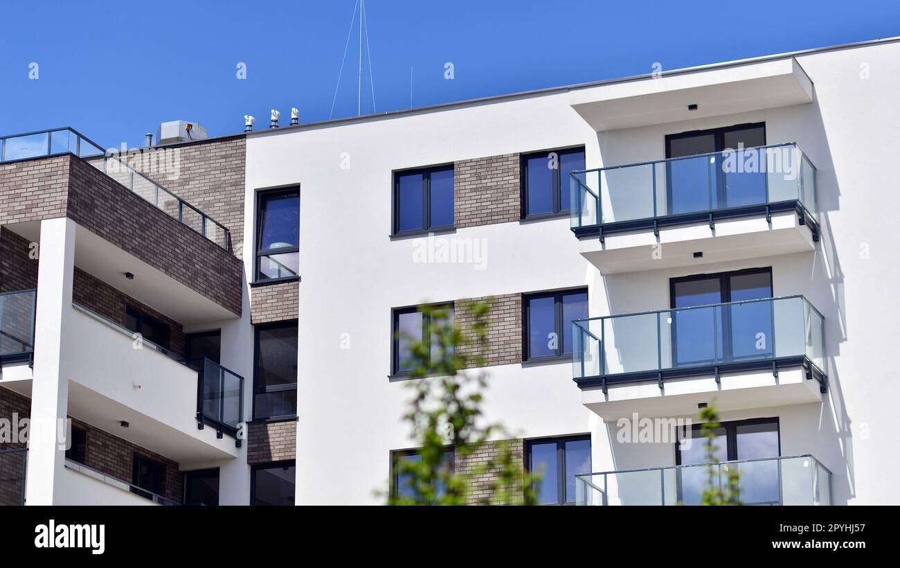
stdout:
{"type": "MultiPolygon", "coordinates": [[[[815,455],[833,472],[836,504],[900,500],[887,474],[900,460],[890,403],[900,314],[882,293],[900,270],[890,221],[896,201],[891,165],[900,142],[894,96],[900,43],[779,61],[787,65],[751,61],[727,67],[727,77],[701,68],[664,76],[659,84],[643,78],[248,136],[247,203],[267,188],[301,188],[296,502],[380,502],[376,492],[388,487],[391,451],[412,445],[401,421],[410,393],[403,381],[389,378],[392,308],[586,285],[590,317],[663,310],[670,307],[671,277],[758,266],[771,267],[775,296],[802,294],[822,311],[828,388],[810,390],[809,399],[782,400],[786,372],[785,385],[745,397],[746,408],[724,410],[723,419],[777,417],[781,455],[815,455]],[[700,113],[681,105],[686,96],[701,101],[700,113]],[[708,107],[714,110],[704,113],[708,107]],[[604,113],[615,119],[609,123],[616,130],[598,129],[604,113]],[[594,248],[602,255],[599,243],[576,239],[568,219],[455,230],[449,238],[484,239],[483,270],[416,262],[417,243],[428,237],[390,236],[395,170],[580,145],[589,168],[622,165],[665,158],[666,134],[745,122],[764,122],[767,144],[797,142],[815,163],[817,242],[807,231],[806,240],[786,245],[787,252],[736,252],[759,238],[751,230],[746,242],[735,241],[719,257],[602,275],[581,254],[594,248]],[[797,400],[804,403],[790,403],[797,400]]],[[[252,224],[248,206],[247,234],[252,224]]],[[[791,230],[799,235],[805,229],[791,230]]],[[[709,230],[689,238],[691,246],[710,250],[715,239],[709,230]]],[[[590,433],[595,472],[675,464],[671,444],[618,444],[615,423],[590,410],[597,394],[581,392],[568,362],[488,371],[487,416],[519,437],[590,433]]],[[[711,384],[698,392],[707,389],[714,400],[718,387],[711,384]]],[[[634,398],[632,410],[653,416],[664,396],[634,398]]]]}

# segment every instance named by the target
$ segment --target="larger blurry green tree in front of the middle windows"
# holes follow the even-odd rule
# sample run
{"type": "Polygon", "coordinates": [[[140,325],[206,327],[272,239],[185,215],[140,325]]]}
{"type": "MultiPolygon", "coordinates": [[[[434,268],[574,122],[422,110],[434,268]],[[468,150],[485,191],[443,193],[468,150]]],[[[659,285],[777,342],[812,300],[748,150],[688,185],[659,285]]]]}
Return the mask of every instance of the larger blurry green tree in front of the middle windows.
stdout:
{"type": "Polygon", "coordinates": [[[524,473],[508,441],[511,435],[500,424],[484,424],[482,392],[487,387],[484,372],[465,372],[483,367],[489,348],[487,326],[489,302],[470,302],[463,307],[471,325],[460,329],[446,308],[423,306],[426,332],[422,338],[404,336],[410,345],[410,390],[413,397],[403,419],[410,424],[419,446],[418,460],[401,460],[398,477],[405,495],[389,492],[390,505],[465,505],[470,501],[473,480],[491,473],[477,502],[481,504],[536,504],[538,473],[524,473]],[[457,464],[479,448],[497,445],[488,460],[465,471],[455,471],[443,455],[452,446],[457,464]]]}

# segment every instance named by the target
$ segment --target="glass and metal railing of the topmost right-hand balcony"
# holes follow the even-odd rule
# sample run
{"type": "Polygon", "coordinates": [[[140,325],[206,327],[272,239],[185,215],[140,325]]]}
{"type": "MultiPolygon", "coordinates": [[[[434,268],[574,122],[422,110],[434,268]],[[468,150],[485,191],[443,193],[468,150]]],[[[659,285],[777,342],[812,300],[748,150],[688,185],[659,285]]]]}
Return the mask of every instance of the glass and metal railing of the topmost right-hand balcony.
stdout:
{"type": "Polygon", "coordinates": [[[815,166],[796,143],[572,172],[572,230],[604,232],[796,209],[818,239],[815,166]]]}

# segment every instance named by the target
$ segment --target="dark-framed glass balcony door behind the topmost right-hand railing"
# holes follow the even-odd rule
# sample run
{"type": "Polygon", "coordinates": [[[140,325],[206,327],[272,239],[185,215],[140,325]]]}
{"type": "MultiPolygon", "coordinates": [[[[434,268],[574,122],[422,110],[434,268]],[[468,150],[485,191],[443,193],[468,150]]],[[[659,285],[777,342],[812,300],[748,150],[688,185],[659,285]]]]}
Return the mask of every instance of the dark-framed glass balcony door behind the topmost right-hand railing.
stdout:
{"type": "MultiPolygon", "coordinates": [[[[681,132],[666,136],[666,158],[684,158],[725,149],[766,145],[766,125],[738,124],[707,131],[681,132]]],[[[765,156],[759,162],[764,169],[765,156]]],[[[717,158],[680,159],[666,163],[666,201],[669,214],[725,209],[766,203],[766,173],[726,172],[710,165],[717,158]],[[698,183],[698,180],[709,180],[698,183]]]]}

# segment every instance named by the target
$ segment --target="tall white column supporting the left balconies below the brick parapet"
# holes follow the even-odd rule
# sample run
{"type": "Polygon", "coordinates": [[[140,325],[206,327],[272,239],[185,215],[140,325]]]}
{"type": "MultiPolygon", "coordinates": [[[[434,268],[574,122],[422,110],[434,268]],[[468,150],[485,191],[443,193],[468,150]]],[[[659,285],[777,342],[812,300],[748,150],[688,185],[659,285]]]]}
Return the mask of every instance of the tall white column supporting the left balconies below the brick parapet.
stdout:
{"type": "Polygon", "coordinates": [[[63,473],[65,449],[55,435],[66,419],[68,378],[63,346],[65,321],[72,311],[75,223],[67,218],[40,221],[38,300],[34,322],[34,372],[31,381],[31,436],[25,503],[50,505],[63,473]],[[37,436],[35,428],[44,435],[37,436]]]}

